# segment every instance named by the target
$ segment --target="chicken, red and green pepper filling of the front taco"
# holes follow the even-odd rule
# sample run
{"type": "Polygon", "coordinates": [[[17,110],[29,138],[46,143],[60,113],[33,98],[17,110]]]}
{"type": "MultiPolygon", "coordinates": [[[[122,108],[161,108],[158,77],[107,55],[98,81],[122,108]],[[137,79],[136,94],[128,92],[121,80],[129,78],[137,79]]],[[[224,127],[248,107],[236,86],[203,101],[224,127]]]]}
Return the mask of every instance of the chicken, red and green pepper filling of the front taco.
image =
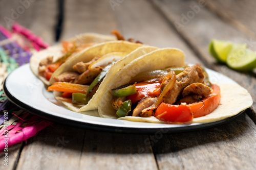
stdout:
{"type": "Polygon", "coordinates": [[[155,116],[166,122],[189,122],[209,114],[220,102],[220,88],[210,85],[197,65],[142,72],[112,94],[119,117],[155,116]]]}

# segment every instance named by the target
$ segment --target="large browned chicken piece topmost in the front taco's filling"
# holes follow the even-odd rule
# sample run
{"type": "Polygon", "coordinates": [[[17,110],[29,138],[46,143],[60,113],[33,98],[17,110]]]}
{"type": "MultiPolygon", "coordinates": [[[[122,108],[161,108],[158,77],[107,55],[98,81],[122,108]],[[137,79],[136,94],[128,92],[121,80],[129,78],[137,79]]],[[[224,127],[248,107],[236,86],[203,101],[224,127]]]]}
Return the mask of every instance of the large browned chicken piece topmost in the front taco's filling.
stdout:
{"type": "MultiPolygon", "coordinates": [[[[186,86],[192,83],[202,82],[203,78],[203,71],[200,67],[193,65],[191,67],[185,68],[180,74],[176,76],[176,83],[164,99],[164,102],[168,104],[175,103],[177,97],[186,86]]],[[[161,88],[163,89],[165,82],[162,83],[163,86],[161,85],[161,88]]]]}

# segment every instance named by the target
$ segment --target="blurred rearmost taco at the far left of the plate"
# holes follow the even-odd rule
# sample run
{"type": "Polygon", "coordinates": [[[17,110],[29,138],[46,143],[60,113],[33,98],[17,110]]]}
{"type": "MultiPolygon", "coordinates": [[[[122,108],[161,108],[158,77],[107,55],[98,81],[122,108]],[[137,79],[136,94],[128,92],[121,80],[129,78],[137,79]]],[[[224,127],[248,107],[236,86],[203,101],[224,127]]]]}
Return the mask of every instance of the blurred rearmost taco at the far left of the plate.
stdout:
{"type": "Polygon", "coordinates": [[[48,47],[46,50],[33,54],[30,59],[30,68],[32,72],[46,85],[53,72],[66,60],[75,56],[85,48],[95,44],[117,40],[115,36],[102,35],[96,33],[84,33],[77,35],[67,41],[62,41],[48,47]]]}

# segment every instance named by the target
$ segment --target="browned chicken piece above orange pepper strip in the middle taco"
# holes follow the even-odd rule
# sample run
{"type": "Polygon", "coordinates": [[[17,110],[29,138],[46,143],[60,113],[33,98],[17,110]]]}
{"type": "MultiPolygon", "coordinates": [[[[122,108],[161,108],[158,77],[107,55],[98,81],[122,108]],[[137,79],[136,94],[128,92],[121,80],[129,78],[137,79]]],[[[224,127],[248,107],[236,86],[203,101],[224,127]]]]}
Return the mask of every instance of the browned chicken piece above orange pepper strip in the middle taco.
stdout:
{"type": "Polygon", "coordinates": [[[100,74],[101,67],[93,67],[84,71],[80,76],[74,80],[75,84],[91,84],[93,80],[100,74]]]}

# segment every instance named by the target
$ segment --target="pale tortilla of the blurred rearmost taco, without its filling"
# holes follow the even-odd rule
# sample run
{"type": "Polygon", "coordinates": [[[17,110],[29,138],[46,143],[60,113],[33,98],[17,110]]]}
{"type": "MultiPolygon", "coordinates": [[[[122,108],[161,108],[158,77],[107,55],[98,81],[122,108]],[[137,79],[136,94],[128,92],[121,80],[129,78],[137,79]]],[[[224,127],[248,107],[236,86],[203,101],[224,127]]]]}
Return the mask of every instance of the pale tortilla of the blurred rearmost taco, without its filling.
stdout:
{"type": "MultiPolygon", "coordinates": [[[[77,35],[68,41],[75,41],[76,44],[79,43],[101,43],[106,41],[114,41],[116,40],[115,36],[110,35],[103,35],[103,34],[96,34],[96,33],[84,33],[77,35]]],[[[50,85],[49,81],[46,80],[44,77],[39,76],[38,73],[38,66],[42,59],[53,56],[53,61],[56,61],[58,58],[63,56],[62,46],[61,44],[57,44],[54,46],[48,47],[46,50],[42,50],[40,52],[34,53],[33,56],[30,58],[30,68],[34,75],[36,75],[42,82],[46,85],[50,85]]]]}

